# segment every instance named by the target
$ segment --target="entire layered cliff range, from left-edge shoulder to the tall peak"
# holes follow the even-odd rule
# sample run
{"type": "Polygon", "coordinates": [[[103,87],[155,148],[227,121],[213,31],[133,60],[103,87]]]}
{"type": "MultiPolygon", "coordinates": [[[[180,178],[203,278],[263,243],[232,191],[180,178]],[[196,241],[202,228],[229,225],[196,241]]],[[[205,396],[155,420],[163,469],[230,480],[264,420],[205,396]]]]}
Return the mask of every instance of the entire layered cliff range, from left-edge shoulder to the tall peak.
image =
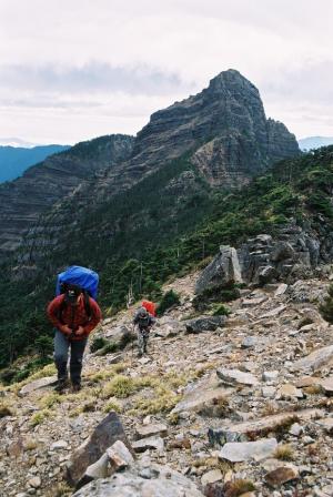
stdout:
{"type": "Polygon", "coordinates": [[[50,233],[57,245],[57,233],[69,223],[79,225],[80,213],[100,207],[184,153],[213,187],[242,186],[273,162],[300,153],[294,135],[266,120],[259,91],[234,70],[155,112],[134,142],[121,135],[110,140],[97,154],[87,146],[74,160],[74,152],[56,155],[0,190],[0,256],[17,248],[27,233],[30,253],[37,233],[37,245],[48,245],[50,233]],[[91,171],[101,169],[105,174],[92,179],[91,171]]]}

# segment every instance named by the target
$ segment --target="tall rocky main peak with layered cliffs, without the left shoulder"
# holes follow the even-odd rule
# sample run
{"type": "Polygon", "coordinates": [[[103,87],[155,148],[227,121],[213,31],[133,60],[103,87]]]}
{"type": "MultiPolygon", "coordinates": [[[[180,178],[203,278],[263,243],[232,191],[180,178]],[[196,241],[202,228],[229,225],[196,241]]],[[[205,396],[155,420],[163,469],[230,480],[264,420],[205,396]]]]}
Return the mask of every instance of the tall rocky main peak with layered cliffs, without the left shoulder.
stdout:
{"type": "Polygon", "coordinates": [[[300,152],[284,124],[266,120],[258,89],[234,70],[221,72],[201,93],[155,112],[138,134],[132,165],[162,163],[191,150],[196,150],[193,162],[208,181],[222,186],[240,186],[300,152]]]}

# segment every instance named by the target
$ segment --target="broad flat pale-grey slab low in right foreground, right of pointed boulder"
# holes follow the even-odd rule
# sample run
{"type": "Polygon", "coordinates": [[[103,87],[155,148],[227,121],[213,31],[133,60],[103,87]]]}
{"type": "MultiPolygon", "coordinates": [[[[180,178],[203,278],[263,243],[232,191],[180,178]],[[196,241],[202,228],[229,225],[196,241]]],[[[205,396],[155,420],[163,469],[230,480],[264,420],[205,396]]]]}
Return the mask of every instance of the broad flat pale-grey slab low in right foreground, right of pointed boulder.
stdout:
{"type": "Polygon", "coordinates": [[[264,438],[256,442],[234,442],[226,443],[219,452],[220,459],[226,459],[231,463],[241,463],[243,460],[261,460],[272,456],[278,447],[275,438],[264,438]]]}

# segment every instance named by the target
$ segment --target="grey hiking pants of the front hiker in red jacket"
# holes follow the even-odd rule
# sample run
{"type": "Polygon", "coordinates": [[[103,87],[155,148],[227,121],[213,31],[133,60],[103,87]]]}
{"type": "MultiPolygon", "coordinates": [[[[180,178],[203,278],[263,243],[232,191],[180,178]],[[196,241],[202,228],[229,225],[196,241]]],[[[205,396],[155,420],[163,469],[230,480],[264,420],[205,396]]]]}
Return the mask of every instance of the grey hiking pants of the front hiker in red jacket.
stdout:
{"type": "Polygon", "coordinates": [[[70,341],[63,333],[56,329],[54,336],[54,362],[58,369],[58,379],[65,382],[67,379],[67,363],[69,355],[69,347],[71,347],[70,358],[70,376],[72,384],[80,384],[82,359],[87,338],[80,341],[70,341]]]}

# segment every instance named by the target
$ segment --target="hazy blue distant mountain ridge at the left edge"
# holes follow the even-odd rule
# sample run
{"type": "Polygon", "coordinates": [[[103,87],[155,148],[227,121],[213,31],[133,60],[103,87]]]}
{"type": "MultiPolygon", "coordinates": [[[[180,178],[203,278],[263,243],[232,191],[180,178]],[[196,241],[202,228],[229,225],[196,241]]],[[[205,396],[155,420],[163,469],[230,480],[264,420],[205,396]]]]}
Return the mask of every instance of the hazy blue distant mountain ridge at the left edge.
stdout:
{"type": "Polygon", "coordinates": [[[0,144],[0,183],[19,178],[31,165],[44,161],[53,153],[63,152],[70,145],[40,145],[32,148],[0,144]]]}

